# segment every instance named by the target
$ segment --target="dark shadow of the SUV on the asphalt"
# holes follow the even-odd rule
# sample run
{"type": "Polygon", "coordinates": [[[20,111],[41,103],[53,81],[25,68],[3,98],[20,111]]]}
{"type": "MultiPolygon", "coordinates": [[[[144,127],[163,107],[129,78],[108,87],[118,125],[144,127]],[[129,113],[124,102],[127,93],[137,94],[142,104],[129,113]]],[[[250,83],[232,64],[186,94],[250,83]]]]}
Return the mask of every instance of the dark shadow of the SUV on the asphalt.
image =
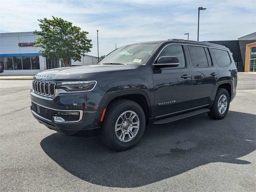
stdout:
{"type": "Polygon", "coordinates": [[[100,138],[52,134],[44,152],[62,168],[101,186],[132,188],[164,180],[211,162],[250,164],[238,159],[255,150],[254,114],[229,111],[223,120],[201,114],[147,126],[132,149],[114,152],[100,138]]]}

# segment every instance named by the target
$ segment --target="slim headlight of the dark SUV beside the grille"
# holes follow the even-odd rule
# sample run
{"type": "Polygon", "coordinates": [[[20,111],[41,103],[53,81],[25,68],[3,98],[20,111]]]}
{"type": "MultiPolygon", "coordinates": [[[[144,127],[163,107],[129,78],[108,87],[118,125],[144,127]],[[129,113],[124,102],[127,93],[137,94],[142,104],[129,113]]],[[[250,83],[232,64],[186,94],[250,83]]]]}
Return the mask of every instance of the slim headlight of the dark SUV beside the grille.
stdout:
{"type": "Polygon", "coordinates": [[[56,89],[62,89],[66,92],[86,92],[92,91],[96,84],[96,81],[61,82],[56,84],[56,89]]]}

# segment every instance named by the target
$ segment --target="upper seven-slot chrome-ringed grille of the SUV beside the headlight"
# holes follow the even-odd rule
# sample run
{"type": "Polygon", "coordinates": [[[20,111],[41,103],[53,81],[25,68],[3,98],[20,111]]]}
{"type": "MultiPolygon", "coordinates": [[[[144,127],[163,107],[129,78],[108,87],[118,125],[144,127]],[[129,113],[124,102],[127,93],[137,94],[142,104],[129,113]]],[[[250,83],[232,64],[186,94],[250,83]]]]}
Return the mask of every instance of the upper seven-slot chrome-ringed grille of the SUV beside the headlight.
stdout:
{"type": "Polygon", "coordinates": [[[56,83],[33,80],[33,90],[37,94],[53,97],[55,95],[56,83]]]}

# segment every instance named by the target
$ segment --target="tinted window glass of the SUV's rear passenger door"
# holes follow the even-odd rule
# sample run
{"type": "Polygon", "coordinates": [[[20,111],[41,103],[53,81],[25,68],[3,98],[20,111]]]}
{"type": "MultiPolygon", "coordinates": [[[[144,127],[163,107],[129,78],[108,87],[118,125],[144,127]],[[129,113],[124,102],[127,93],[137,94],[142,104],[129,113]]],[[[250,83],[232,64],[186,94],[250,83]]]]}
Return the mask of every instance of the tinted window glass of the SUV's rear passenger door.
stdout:
{"type": "Polygon", "coordinates": [[[212,66],[211,61],[208,64],[208,59],[210,59],[210,55],[209,55],[209,58],[206,56],[206,51],[209,54],[209,51],[207,48],[205,49],[204,47],[199,47],[199,46],[188,46],[188,50],[192,60],[192,65],[194,67],[212,66]]]}

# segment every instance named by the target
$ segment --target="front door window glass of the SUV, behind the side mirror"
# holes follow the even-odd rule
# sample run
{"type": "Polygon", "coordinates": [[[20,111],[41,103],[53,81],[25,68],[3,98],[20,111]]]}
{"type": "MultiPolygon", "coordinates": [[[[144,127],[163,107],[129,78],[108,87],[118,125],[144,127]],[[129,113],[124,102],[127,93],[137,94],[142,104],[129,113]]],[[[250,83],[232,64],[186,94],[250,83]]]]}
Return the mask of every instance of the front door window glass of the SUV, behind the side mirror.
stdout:
{"type": "MultiPolygon", "coordinates": [[[[178,67],[185,67],[185,57],[184,57],[184,52],[182,45],[168,45],[166,46],[162,52],[159,54],[159,57],[162,56],[174,56],[177,57],[180,64],[178,67]]],[[[177,68],[177,67],[175,67],[177,68]]]]}

